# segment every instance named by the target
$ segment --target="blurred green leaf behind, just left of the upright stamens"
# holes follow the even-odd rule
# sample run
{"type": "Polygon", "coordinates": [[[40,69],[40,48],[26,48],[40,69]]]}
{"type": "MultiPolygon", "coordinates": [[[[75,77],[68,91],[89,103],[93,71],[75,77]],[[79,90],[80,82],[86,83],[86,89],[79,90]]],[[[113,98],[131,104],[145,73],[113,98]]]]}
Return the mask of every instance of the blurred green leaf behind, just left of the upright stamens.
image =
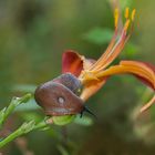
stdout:
{"type": "Polygon", "coordinates": [[[87,33],[82,35],[84,40],[91,43],[95,43],[97,45],[108,43],[112,37],[113,37],[113,30],[102,29],[102,28],[94,28],[90,30],[87,33]]]}

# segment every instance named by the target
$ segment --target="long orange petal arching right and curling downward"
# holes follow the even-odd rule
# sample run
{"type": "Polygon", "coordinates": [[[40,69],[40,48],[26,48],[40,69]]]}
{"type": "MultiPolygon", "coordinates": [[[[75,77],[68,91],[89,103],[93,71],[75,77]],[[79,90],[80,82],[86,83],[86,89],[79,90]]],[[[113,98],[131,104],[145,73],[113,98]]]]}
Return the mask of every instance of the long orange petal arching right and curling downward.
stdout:
{"type": "Polygon", "coordinates": [[[105,71],[99,72],[96,78],[103,78],[107,75],[130,73],[138,78],[142,82],[155,90],[155,66],[148,65],[144,62],[137,61],[121,61],[118,65],[111,66],[105,71]]]}

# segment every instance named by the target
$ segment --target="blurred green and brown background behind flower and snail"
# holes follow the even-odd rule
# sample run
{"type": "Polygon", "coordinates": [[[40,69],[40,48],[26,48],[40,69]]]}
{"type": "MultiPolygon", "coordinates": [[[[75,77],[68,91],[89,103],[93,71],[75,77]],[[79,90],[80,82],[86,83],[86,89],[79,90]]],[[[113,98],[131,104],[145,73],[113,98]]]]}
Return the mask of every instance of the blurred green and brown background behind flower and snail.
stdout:
{"type": "MultiPolygon", "coordinates": [[[[154,0],[1,0],[0,107],[13,95],[61,73],[64,50],[97,59],[114,31],[113,8],[136,8],[135,28],[122,59],[155,62],[154,0]]],[[[152,91],[130,75],[114,76],[86,103],[93,123],[32,132],[7,146],[6,155],[154,155],[155,107],[137,116],[152,91]]],[[[35,103],[8,121],[9,133],[21,122],[43,116],[35,103]]]]}

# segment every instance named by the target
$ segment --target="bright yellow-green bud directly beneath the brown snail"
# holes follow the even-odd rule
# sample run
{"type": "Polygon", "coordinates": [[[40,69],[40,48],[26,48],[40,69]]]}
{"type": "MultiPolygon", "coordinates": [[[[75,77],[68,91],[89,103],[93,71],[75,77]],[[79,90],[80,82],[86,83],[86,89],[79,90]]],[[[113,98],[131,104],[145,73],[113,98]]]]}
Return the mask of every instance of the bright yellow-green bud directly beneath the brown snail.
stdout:
{"type": "Polygon", "coordinates": [[[66,125],[71,122],[73,122],[75,118],[75,115],[63,115],[63,116],[53,116],[53,123],[56,125],[66,125]]]}

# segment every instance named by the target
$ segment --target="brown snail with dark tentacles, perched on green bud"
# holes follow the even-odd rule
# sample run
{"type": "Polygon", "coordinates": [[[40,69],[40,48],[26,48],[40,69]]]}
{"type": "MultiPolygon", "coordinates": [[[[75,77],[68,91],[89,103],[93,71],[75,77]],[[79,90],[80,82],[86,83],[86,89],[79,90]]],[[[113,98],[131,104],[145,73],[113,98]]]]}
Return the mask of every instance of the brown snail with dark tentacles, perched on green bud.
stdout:
{"type": "Polygon", "coordinates": [[[79,96],[81,89],[80,80],[71,73],[65,73],[38,86],[34,99],[46,115],[61,116],[80,113],[82,116],[84,111],[93,114],[79,96]]]}

